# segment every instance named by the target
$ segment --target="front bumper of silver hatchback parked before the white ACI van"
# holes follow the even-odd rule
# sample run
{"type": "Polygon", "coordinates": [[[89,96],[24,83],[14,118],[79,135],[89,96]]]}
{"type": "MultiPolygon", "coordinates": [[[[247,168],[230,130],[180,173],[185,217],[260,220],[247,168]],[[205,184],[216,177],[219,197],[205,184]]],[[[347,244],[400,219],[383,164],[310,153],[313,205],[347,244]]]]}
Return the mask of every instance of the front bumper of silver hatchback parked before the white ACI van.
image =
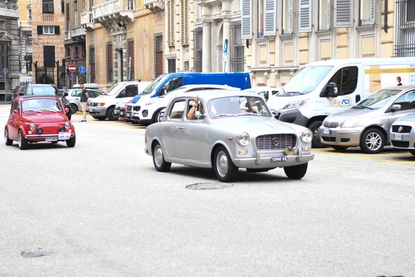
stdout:
{"type": "Polygon", "coordinates": [[[318,133],[320,134],[320,141],[326,145],[338,145],[338,146],[359,146],[360,136],[362,135],[365,127],[350,127],[350,128],[327,128],[320,126],[318,133]],[[324,130],[329,130],[330,134],[323,134],[324,130]]]}

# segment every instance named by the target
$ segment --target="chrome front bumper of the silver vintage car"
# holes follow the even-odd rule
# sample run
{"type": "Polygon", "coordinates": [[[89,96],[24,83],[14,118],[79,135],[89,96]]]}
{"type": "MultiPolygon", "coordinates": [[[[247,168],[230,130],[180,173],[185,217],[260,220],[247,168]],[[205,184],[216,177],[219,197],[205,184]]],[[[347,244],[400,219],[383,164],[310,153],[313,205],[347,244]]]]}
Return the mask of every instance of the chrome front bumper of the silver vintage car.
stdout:
{"type": "Polygon", "coordinates": [[[237,158],[233,159],[234,165],[239,168],[284,168],[287,166],[298,166],[303,163],[308,163],[314,159],[314,154],[311,151],[303,152],[297,150],[297,154],[284,155],[270,155],[269,153],[256,152],[256,158],[237,158]],[[272,158],[277,157],[280,161],[271,161],[272,158]],[[286,161],[282,160],[286,159],[286,161]]]}

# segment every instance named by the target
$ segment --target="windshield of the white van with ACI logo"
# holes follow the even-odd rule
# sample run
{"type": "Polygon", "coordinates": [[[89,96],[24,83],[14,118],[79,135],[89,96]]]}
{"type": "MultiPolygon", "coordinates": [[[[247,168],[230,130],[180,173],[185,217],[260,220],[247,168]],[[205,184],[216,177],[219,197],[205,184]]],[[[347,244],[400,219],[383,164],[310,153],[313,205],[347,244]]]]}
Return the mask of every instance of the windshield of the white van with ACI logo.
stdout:
{"type": "Polygon", "coordinates": [[[278,96],[286,94],[307,94],[313,91],[318,84],[333,69],[333,66],[306,66],[293,75],[285,86],[277,93],[278,96]]]}

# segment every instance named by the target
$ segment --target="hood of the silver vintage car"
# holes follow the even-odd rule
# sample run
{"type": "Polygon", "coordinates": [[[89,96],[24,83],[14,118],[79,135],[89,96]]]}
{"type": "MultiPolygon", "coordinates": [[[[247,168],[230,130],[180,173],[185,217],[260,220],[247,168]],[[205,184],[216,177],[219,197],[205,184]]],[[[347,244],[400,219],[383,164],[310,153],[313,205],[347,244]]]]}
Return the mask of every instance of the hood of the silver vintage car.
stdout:
{"type": "Polygon", "coordinates": [[[273,117],[266,116],[232,116],[214,119],[214,122],[216,120],[216,126],[224,131],[247,132],[250,136],[259,136],[261,134],[297,134],[306,129],[299,125],[284,123],[273,117]]]}

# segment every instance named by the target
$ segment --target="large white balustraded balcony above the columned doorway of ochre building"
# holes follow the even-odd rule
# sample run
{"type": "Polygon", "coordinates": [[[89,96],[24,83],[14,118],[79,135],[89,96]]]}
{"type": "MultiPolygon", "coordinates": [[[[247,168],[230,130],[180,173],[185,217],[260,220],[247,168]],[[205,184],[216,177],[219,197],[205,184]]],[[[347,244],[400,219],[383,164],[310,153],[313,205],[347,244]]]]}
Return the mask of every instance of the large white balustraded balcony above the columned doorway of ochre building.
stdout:
{"type": "Polygon", "coordinates": [[[127,21],[135,21],[133,12],[133,5],[127,0],[109,0],[92,7],[92,21],[105,28],[120,30],[127,21]]]}

